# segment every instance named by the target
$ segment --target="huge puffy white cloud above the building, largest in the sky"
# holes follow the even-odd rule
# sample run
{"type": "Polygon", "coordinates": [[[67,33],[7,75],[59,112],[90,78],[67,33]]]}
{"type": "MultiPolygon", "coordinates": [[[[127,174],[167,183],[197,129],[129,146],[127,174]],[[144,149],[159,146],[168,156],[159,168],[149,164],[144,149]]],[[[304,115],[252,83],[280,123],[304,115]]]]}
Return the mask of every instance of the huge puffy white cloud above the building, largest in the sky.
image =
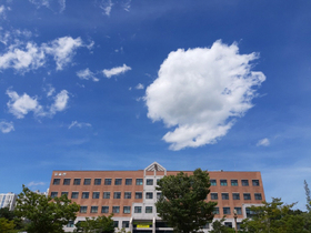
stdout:
{"type": "Polygon", "coordinates": [[[148,116],[175,126],[163,140],[171,150],[215,143],[242,116],[265,77],[251,71],[257,53],[239,54],[235,43],[171,52],[146,90],[148,116]]]}

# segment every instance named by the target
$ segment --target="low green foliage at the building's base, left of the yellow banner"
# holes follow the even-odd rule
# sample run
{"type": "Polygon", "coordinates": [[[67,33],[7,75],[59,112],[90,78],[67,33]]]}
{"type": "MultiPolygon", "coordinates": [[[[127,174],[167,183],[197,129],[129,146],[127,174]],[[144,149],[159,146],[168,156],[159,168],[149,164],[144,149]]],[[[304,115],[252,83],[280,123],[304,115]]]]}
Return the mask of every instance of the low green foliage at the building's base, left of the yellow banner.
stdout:
{"type": "Polygon", "coordinates": [[[86,217],[76,224],[74,232],[79,233],[112,233],[114,232],[112,214],[109,216],[86,217]]]}

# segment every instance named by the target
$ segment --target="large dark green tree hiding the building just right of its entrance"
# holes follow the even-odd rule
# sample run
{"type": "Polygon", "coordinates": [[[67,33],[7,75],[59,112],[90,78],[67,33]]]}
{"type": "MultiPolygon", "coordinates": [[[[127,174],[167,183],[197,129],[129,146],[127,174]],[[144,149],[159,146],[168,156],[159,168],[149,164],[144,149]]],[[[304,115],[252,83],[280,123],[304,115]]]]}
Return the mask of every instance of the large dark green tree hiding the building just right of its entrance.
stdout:
{"type": "Polygon", "coordinates": [[[197,169],[193,175],[180,172],[162,178],[157,188],[162,193],[156,203],[159,216],[175,232],[199,232],[212,221],[217,205],[215,202],[205,202],[209,188],[209,173],[201,169],[197,169]]]}

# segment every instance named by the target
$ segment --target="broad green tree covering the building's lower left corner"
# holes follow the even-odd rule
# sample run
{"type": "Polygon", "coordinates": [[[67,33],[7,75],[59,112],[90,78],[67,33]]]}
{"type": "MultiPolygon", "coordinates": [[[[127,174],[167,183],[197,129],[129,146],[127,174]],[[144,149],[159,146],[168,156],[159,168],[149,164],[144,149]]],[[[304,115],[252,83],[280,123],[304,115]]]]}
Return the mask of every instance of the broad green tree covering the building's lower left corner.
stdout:
{"type": "Polygon", "coordinates": [[[61,197],[44,196],[33,193],[22,185],[18,195],[16,213],[29,220],[28,233],[61,233],[63,225],[74,221],[80,206],[71,203],[67,195],[61,197]]]}

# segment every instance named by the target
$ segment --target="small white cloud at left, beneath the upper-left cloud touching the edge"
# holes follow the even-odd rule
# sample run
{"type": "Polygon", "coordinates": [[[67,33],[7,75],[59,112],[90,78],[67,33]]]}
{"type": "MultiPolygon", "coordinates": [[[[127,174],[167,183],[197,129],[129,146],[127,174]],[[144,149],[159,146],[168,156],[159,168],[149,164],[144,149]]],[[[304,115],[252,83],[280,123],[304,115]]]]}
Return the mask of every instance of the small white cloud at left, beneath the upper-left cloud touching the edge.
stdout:
{"type": "Polygon", "coordinates": [[[9,112],[16,115],[18,119],[22,119],[28,112],[32,111],[36,114],[42,111],[42,107],[37,101],[37,98],[31,98],[27,93],[21,97],[11,90],[7,90],[7,94],[11,100],[7,103],[9,112]]]}

